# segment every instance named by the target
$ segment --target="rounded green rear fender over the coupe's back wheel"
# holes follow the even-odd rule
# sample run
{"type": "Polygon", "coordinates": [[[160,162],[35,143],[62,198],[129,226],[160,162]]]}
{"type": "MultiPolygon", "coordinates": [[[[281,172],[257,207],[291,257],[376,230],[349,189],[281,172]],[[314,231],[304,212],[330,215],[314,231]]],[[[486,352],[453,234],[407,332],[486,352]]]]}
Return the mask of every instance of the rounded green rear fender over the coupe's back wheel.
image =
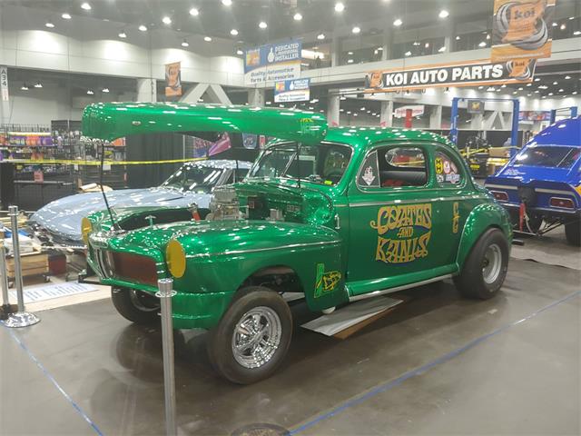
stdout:
{"type": "Polygon", "coordinates": [[[482,233],[486,232],[490,227],[497,227],[502,233],[505,233],[508,246],[510,247],[510,243],[512,242],[512,225],[510,224],[507,211],[497,203],[479,204],[472,209],[464,224],[464,230],[458,247],[458,256],[456,258],[458,271],[462,271],[468,253],[470,253],[470,250],[472,250],[472,247],[482,233]]]}

